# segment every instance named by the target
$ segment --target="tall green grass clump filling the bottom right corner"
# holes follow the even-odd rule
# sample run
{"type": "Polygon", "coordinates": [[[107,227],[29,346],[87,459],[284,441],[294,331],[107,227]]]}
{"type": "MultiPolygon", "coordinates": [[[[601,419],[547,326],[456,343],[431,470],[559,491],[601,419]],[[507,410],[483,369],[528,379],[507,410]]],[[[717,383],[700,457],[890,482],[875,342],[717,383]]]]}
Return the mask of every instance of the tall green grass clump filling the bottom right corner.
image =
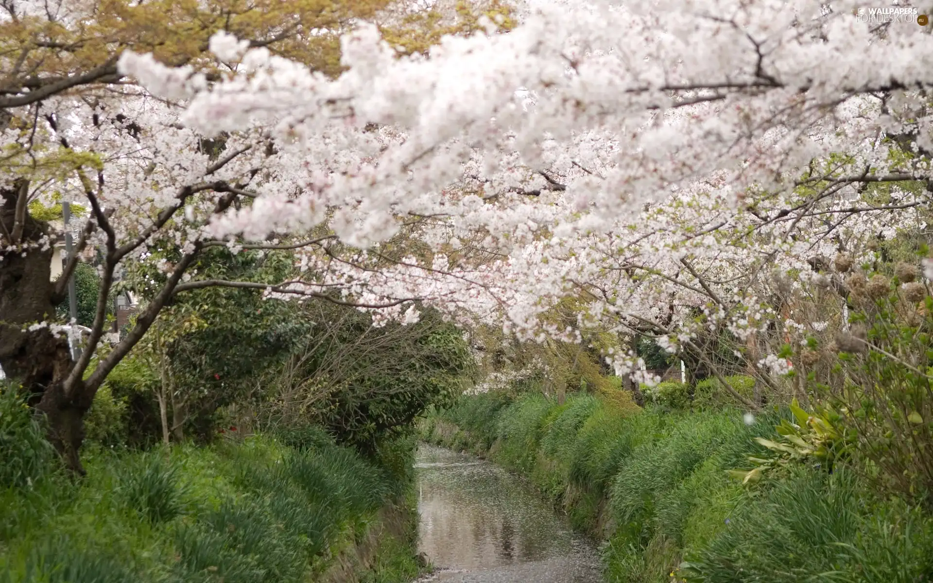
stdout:
{"type": "Polygon", "coordinates": [[[915,510],[870,502],[846,470],[795,467],[734,508],[725,528],[690,550],[681,576],[720,581],[926,581],[933,529],[915,510]]]}

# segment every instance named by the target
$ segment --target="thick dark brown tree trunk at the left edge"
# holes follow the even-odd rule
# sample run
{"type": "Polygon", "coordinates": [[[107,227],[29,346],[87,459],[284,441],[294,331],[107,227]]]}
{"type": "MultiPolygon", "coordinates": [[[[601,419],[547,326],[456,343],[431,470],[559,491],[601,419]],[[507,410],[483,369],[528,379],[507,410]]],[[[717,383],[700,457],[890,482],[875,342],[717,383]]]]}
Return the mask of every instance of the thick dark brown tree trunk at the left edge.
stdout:
{"type": "Polygon", "coordinates": [[[78,458],[82,418],[93,395],[80,381],[70,396],[65,395],[64,382],[73,366],[68,340],[48,327],[29,329],[55,317],[59,298],[50,281],[52,248],[43,244],[48,226],[18,213],[22,196],[18,187],[0,189],[0,249],[14,247],[0,251],[0,366],[22,384],[29,404],[45,413],[49,441],[65,464],[83,474],[78,458]]]}

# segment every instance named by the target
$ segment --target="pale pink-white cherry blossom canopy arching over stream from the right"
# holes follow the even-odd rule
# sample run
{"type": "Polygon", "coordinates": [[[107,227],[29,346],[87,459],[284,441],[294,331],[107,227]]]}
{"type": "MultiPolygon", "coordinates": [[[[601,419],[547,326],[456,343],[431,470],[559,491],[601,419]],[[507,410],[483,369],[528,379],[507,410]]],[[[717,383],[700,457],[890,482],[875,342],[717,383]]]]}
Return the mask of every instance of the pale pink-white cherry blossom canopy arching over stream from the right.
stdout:
{"type": "Polygon", "coordinates": [[[507,35],[449,37],[428,58],[399,58],[362,26],[341,40],[336,79],[224,33],[211,50],[235,72],[215,83],[132,52],[118,66],[178,102],[167,109],[186,131],[230,133],[231,152],[274,144],[214,174],[253,172],[254,201],[191,240],[326,223],[368,250],[304,247],[313,277],[278,295],[422,298],[574,339],[577,326],[537,316],[582,293],[580,327],[673,332],[696,308],[704,326],[723,320],[745,338],[774,317],[767,286],[753,285],[771,268],[815,274],[810,257],[923,220],[933,42],[915,22],[879,30],[855,7],[542,3],[507,35]],[[887,201],[863,200],[884,183],[896,185],[887,201]],[[406,228],[430,253],[371,270],[406,228]]]}

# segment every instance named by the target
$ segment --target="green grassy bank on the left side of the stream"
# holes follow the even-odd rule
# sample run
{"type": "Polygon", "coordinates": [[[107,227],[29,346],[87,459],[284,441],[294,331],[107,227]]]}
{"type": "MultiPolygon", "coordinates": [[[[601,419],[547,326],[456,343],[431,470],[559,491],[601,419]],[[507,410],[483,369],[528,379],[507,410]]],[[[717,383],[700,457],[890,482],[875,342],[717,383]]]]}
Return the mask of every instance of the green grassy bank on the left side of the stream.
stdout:
{"type": "MultiPolygon", "coordinates": [[[[410,581],[413,438],[368,461],[306,428],[211,447],[85,456],[57,469],[0,410],[0,581],[410,581]]],[[[24,409],[22,409],[24,411],[24,409]]],[[[233,433],[233,432],[229,432],[233,433]]]]}

